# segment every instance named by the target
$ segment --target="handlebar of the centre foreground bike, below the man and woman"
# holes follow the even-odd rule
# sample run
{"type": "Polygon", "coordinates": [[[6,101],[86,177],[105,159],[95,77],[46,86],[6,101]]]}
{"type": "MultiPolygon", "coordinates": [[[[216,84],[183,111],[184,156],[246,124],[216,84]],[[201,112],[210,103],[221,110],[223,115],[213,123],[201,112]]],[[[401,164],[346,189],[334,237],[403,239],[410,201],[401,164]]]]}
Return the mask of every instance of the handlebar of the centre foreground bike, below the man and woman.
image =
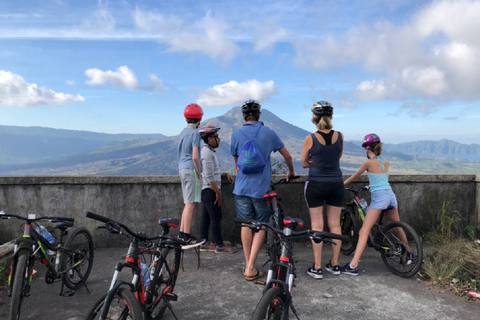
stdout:
{"type": "Polygon", "coordinates": [[[255,220],[249,220],[249,219],[240,219],[236,218],[236,222],[242,223],[242,224],[247,224],[245,227],[248,227],[253,230],[261,230],[263,227],[267,227],[267,229],[277,233],[281,234],[282,237],[288,237],[288,238],[310,238],[316,243],[319,243],[321,241],[324,241],[325,239],[337,239],[341,241],[348,241],[348,237],[341,235],[341,234],[335,234],[335,233],[330,233],[327,231],[316,231],[316,230],[302,230],[302,231],[293,231],[291,229],[288,234],[285,234],[284,230],[286,229],[279,229],[275,228],[271,225],[269,225],[267,222],[261,222],[261,221],[255,221],[255,220]]]}

